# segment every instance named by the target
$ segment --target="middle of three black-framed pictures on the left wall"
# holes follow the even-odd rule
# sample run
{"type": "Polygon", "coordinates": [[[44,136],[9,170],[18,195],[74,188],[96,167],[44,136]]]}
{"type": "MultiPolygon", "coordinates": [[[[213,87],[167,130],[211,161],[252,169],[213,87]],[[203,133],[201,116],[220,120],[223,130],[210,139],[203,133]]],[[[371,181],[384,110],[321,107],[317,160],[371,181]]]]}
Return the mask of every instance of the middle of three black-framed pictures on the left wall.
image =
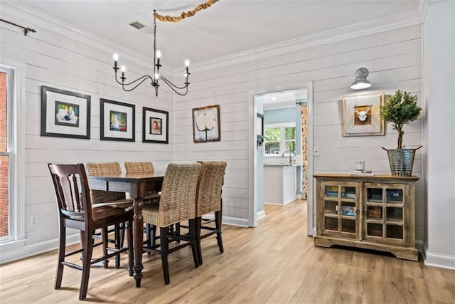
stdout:
{"type": "Polygon", "coordinates": [[[100,98],[100,140],[135,140],[135,105],[100,98]]]}

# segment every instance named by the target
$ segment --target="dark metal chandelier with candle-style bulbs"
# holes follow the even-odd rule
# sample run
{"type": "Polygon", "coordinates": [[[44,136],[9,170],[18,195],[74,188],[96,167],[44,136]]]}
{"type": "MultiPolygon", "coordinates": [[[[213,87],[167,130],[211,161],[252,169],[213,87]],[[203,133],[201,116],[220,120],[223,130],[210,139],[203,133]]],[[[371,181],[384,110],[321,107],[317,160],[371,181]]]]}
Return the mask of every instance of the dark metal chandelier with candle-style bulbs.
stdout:
{"type": "Polygon", "coordinates": [[[173,83],[171,83],[170,80],[166,79],[164,76],[159,75],[159,68],[161,67],[161,64],[160,64],[161,51],[156,50],[156,11],[154,10],[154,12],[155,12],[154,13],[154,74],[153,74],[154,76],[152,77],[151,75],[144,75],[144,76],[137,78],[136,80],[133,80],[132,82],[125,83],[125,80],[127,80],[127,78],[125,77],[126,68],[124,67],[124,65],[122,65],[122,68],[120,68],[120,70],[122,71],[122,77],[120,77],[122,82],[120,82],[119,79],[117,78],[117,71],[119,70],[119,67],[118,67],[119,56],[117,54],[114,54],[114,68],[113,69],[115,70],[115,80],[117,81],[117,83],[119,85],[122,85],[122,89],[124,91],[129,92],[129,91],[132,91],[135,88],[137,88],[141,83],[144,83],[145,80],[149,79],[151,81],[151,83],[150,83],[151,86],[155,88],[156,96],[158,96],[159,80],[163,80],[163,82],[166,83],[166,85],[168,85],[169,88],[171,88],[178,95],[181,95],[181,96],[186,95],[188,93],[188,85],[190,84],[190,83],[188,83],[188,77],[190,75],[190,72],[189,72],[190,61],[188,61],[188,59],[185,61],[186,70],[185,70],[185,73],[183,74],[183,77],[185,78],[185,83],[183,86],[179,87],[177,85],[174,85],[173,83]]]}

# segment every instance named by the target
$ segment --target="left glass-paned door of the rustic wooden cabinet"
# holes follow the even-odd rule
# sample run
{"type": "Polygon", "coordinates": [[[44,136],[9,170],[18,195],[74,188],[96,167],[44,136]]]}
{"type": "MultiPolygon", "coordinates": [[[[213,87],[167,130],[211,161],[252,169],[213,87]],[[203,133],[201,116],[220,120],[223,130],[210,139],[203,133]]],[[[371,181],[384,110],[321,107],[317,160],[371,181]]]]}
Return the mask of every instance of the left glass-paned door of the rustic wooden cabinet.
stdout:
{"type": "Polygon", "coordinates": [[[355,183],[323,182],[323,234],[358,239],[358,187],[355,183]]]}

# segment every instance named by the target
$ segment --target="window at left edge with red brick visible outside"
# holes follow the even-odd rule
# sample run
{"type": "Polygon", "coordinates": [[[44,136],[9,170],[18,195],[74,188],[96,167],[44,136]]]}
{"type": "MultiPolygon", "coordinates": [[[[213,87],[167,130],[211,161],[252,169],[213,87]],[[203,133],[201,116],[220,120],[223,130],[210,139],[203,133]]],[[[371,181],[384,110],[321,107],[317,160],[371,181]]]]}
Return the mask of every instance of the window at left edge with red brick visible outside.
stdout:
{"type": "Polygon", "coordinates": [[[13,162],[12,103],[14,71],[0,68],[0,242],[11,234],[11,168],[13,162]]]}

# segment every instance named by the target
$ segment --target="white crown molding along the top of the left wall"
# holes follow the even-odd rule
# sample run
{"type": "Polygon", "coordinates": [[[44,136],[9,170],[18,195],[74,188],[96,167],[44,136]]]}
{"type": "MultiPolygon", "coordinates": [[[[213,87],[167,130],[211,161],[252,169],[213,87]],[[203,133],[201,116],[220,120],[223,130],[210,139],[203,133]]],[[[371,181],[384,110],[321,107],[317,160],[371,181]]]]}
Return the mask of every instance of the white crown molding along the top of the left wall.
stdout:
{"type": "MultiPolygon", "coordinates": [[[[107,53],[120,53],[122,58],[132,61],[145,67],[153,66],[151,58],[142,55],[139,52],[133,51],[130,48],[114,43],[106,38],[97,36],[82,28],[78,28],[73,24],[66,23],[60,19],[55,19],[53,16],[43,14],[41,11],[36,11],[30,7],[19,3],[18,1],[2,1],[1,2],[2,14],[9,14],[18,19],[23,19],[27,23],[33,23],[32,27],[45,28],[48,31],[53,31],[59,35],[71,38],[81,43],[88,44],[95,48],[99,48],[107,53]]],[[[162,67],[161,70],[166,75],[173,75],[174,70],[162,67]]]]}

